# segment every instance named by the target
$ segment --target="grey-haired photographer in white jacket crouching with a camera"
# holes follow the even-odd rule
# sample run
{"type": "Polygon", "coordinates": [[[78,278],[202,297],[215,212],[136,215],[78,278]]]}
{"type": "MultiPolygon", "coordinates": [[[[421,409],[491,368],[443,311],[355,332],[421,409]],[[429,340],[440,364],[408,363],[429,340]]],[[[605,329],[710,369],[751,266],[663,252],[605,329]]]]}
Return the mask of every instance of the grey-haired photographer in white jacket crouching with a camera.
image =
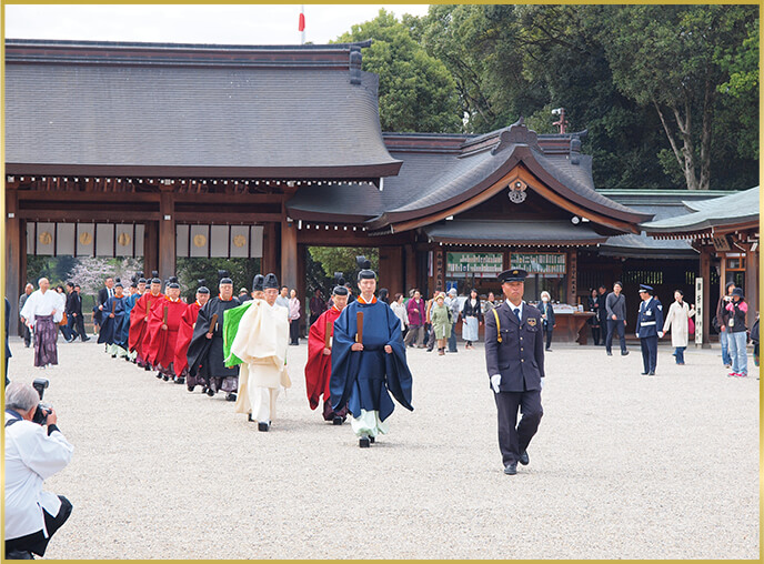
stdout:
{"type": "Polygon", "coordinates": [[[69,464],[74,447],[56,426],[52,409],[44,425],[32,422],[39,403],[29,384],[11,382],[6,389],[6,558],[43,556],[72,510],[66,497],[42,491],[42,482],[69,464]]]}

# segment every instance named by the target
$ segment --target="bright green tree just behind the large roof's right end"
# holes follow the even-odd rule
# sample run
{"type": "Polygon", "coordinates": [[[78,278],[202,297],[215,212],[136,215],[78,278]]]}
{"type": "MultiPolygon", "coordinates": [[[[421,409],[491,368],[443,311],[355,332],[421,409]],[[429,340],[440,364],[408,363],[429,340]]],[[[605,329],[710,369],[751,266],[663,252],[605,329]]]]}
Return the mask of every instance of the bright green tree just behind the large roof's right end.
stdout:
{"type": "Polygon", "coordinates": [[[363,51],[363,70],[380,75],[383,131],[445,132],[461,130],[459,98],[445,66],[412,37],[416,19],[404,24],[380,10],[376,18],[351,28],[336,42],[372,39],[363,51]]]}

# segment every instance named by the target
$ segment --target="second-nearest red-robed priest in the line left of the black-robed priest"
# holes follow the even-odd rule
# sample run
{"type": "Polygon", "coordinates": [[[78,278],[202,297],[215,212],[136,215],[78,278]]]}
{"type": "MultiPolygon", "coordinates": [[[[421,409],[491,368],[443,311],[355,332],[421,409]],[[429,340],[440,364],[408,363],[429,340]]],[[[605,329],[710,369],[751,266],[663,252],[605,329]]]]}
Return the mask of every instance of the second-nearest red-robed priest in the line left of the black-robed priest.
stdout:
{"type": "Polygon", "coordinates": [[[183,382],[173,370],[173,362],[180,319],[188,305],[180,299],[180,284],[177,276],[170,276],[164,291],[164,299],[159,300],[151,308],[149,315],[147,361],[158,370],[157,377],[165,382],[172,380],[182,384],[183,382]]]}

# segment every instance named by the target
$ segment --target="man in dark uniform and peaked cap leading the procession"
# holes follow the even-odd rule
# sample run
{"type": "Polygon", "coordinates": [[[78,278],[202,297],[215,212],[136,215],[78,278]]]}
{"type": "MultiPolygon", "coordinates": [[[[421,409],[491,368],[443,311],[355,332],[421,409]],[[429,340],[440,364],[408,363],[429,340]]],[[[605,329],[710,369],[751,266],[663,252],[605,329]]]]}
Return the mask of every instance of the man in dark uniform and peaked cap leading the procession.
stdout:
{"type": "Polygon", "coordinates": [[[499,412],[499,450],[509,475],[517,473],[517,462],[530,462],[527,445],[544,414],[542,320],[541,312],[523,301],[525,276],[522,269],[499,274],[505,300],[485,315],[485,364],[499,412]],[[519,424],[517,409],[523,413],[519,424]]]}

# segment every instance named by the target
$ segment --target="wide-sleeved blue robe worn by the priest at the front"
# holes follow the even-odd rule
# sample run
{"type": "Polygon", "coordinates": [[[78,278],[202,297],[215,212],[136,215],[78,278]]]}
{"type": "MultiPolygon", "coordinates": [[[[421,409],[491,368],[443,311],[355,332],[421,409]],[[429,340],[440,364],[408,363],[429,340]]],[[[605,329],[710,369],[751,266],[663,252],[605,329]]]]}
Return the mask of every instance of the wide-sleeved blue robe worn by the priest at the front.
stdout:
{"type": "Polygon", "coordinates": [[[354,417],[361,410],[378,411],[384,421],[394,410],[388,391],[408,410],[411,406],[411,372],[401,336],[401,320],[390,306],[374,300],[349,304],[334,322],[330,391],[335,411],[345,404],[354,417]],[[363,351],[351,351],[358,333],[356,313],[363,312],[363,351]],[[384,345],[392,346],[392,354],[384,345]]]}

